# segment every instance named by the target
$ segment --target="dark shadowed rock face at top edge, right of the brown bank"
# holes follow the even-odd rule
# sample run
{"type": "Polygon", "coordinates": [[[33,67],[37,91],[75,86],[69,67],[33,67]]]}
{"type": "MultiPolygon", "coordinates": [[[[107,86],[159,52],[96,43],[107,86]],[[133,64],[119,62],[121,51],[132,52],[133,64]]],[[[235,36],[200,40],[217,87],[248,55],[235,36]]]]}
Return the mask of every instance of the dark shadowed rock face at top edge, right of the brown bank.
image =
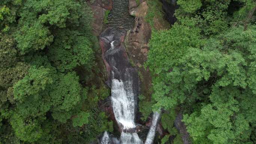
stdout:
{"type": "Polygon", "coordinates": [[[173,25],[177,21],[177,18],[174,16],[174,12],[179,8],[176,0],[162,0],[163,10],[165,12],[165,18],[168,22],[173,25]],[[170,1],[170,2],[169,2],[170,1]]]}

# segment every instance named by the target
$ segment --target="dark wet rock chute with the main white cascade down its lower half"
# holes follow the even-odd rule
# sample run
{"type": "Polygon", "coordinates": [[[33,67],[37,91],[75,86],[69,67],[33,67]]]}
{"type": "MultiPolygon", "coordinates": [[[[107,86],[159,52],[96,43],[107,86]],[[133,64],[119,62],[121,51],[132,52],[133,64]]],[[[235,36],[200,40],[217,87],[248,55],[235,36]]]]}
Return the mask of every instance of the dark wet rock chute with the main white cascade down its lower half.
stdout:
{"type": "Polygon", "coordinates": [[[120,131],[135,132],[138,75],[129,64],[124,47],[125,33],[107,28],[100,35],[102,58],[107,68],[107,84],[112,90],[112,108],[120,131]]]}

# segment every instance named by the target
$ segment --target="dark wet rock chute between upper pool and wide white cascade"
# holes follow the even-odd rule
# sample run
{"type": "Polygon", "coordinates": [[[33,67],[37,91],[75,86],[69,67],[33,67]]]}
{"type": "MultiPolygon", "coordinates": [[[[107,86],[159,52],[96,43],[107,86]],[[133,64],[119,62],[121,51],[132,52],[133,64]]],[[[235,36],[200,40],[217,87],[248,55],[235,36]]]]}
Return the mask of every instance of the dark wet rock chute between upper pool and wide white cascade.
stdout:
{"type": "Polygon", "coordinates": [[[133,93],[138,94],[137,71],[132,68],[129,63],[129,58],[124,46],[125,35],[126,33],[124,33],[124,31],[116,28],[107,28],[100,36],[102,57],[107,67],[108,83],[110,83],[110,86],[112,79],[118,79],[125,82],[132,77],[132,84],[134,85],[133,93]],[[115,73],[114,76],[112,72],[115,73]]]}

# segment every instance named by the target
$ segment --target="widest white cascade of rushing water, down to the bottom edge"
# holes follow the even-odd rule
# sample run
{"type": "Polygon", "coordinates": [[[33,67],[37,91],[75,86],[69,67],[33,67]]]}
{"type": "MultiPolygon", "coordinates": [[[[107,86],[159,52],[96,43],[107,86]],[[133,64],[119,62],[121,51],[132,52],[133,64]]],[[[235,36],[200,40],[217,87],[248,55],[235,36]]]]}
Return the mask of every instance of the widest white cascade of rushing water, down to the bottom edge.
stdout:
{"type": "MultiPolygon", "coordinates": [[[[114,110],[115,118],[118,123],[121,123],[124,128],[130,129],[135,128],[135,101],[132,92],[132,82],[113,79],[112,80],[112,107],[114,110]],[[126,88],[124,87],[126,85],[126,88]]],[[[126,133],[121,134],[121,144],[143,144],[138,137],[137,133],[126,133]]]]}

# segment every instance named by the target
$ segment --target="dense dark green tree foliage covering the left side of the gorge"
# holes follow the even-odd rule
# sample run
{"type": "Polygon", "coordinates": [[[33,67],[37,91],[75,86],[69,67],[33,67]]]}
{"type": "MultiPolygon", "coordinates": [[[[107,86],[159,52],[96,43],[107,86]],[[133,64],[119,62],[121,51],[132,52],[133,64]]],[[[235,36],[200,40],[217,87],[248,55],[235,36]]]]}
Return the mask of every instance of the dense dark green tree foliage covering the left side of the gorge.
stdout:
{"type": "Polygon", "coordinates": [[[85,0],[1,1],[1,144],[85,144],[112,129],[97,107],[109,91],[88,81],[91,21],[85,0]]]}

